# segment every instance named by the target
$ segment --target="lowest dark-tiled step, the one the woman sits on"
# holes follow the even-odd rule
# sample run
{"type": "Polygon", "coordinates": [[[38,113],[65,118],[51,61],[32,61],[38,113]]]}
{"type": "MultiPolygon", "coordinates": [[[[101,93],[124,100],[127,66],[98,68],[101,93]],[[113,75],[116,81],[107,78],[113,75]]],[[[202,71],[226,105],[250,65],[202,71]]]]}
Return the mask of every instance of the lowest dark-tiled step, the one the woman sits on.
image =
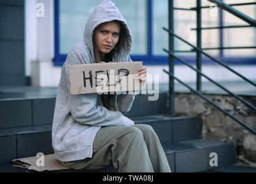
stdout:
{"type": "MultiPolygon", "coordinates": [[[[162,144],[169,166],[173,173],[194,173],[209,171],[221,167],[231,166],[236,161],[235,145],[232,142],[207,141],[202,139],[180,141],[162,144]],[[218,166],[210,166],[211,152],[216,152],[218,166]]],[[[28,173],[35,172],[24,168],[16,168],[12,163],[0,165],[0,172],[28,173]]],[[[53,171],[46,171],[53,172],[53,171]]],[[[117,168],[112,165],[98,170],[59,170],[54,172],[94,172],[116,173],[117,168]]]]}

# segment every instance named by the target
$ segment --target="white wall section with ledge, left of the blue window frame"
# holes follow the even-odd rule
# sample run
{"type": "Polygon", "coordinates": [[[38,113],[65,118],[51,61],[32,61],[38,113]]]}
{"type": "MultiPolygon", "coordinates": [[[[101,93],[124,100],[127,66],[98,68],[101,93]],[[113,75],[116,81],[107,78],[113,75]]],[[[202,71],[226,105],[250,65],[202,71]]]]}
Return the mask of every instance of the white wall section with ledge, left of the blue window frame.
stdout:
{"type": "Polygon", "coordinates": [[[25,74],[32,86],[57,86],[61,67],[54,58],[54,1],[25,0],[25,74]],[[44,17],[36,17],[36,4],[43,3],[44,17]]]}

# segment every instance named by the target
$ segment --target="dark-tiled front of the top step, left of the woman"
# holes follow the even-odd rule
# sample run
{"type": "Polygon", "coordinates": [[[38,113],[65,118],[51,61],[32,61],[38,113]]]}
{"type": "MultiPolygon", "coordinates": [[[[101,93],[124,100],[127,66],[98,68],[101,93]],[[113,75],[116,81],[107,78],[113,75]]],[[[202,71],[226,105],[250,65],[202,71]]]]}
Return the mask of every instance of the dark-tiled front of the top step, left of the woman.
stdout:
{"type": "Polygon", "coordinates": [[[55,100],[55,98],[43,98],[0,101],[0,110],[2,112],[0,128],[52,123],[55,100]]]}

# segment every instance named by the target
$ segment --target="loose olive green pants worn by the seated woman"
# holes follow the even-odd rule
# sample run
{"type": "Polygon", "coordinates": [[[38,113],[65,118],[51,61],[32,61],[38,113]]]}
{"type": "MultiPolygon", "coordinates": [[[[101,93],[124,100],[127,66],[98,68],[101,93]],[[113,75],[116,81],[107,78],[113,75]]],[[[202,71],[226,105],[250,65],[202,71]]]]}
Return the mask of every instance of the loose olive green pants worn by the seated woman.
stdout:
{"type": "Polygon", "coordinates": [[[87,170],[113,164],[119,173],[171,172],[157,134],[144,124],[102,127],[94,138],[92,158],[61,163],[87,170]]]}

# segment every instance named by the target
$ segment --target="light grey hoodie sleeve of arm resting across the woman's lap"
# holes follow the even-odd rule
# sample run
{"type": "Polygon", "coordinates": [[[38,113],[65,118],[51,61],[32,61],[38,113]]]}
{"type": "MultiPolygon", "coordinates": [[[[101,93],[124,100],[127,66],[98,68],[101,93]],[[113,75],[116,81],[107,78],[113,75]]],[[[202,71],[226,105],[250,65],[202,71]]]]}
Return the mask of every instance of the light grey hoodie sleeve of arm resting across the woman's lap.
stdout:
{"type": "MultiPolygon", "coordinates": [[[[69,91],[69,67],[68,64],[84,64],[81,55],[71,53],[66,59],[65,79],[69,91]]],[[[69,94],[68,104],[72,117],[80,124],[90,126],[128,126],[132,121],[123,116],[121,112],[107,110],[104,106],[97,105],[97,93],[69,94]]]]}

